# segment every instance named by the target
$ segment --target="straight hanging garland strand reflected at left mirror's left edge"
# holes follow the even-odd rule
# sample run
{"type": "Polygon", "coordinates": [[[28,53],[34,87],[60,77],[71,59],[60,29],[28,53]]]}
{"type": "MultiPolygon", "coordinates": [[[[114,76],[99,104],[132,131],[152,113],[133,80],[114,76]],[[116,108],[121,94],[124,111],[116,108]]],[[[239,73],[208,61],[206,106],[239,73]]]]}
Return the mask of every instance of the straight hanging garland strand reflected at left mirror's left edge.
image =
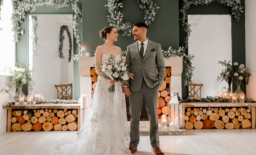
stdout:
{"type": "Polygon", "coordinates": [[[31,16],[32,18],[32,36],[31,39],[33,40],[33,55],[37,55],[37,33],[36,29],[38,28],[38,17],[37,16],[31,16]]]}

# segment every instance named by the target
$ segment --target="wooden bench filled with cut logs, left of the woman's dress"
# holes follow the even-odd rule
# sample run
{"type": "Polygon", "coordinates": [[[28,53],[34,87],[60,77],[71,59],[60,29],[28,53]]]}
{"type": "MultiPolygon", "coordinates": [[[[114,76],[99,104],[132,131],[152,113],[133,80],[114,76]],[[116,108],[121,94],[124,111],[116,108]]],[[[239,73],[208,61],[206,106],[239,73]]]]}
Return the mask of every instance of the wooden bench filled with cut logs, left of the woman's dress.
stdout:
{"type": "Polygon", "coordinates": [[[79,130],[80,104],[8,106],[7,131],[79,130]]]}

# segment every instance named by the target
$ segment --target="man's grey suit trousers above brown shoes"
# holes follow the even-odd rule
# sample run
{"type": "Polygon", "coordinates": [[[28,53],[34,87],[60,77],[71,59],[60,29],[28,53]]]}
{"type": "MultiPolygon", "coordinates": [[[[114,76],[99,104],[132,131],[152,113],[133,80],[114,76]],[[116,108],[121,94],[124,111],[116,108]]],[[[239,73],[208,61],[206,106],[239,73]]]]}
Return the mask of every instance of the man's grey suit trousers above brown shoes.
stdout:
{"type": "Polygon", "coordinates": [[[158,119],[157,119],[157,98],[159,92],[159,85],[154,88],[148,87],[143,82],[140,91],[132,91],[130,95],[130,109],[131,109],[131,125],[130,125],[130,147],[138,147],[140,135],[139,135],[139,123],[143,98],[145,100],[146,110],[148,112],[150,129],[150,143],[153,148],[159,147],[159,134],[158,134],[158,119]]]}

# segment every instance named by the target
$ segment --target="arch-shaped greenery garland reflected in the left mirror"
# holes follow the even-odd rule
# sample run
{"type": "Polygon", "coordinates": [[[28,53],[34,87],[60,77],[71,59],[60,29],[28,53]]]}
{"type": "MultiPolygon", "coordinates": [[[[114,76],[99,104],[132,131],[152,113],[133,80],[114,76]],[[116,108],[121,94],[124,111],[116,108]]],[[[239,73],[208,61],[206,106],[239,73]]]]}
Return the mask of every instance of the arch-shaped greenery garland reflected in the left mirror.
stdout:
{"type": "Polygon", "coordinates": [[[66,25],[61,26],[60,28],[60,44],[59,44],[59,57],[60,59],[65,58],[63,53],[62,53],[62,49],[63,49],[63,40],[65,39],[64,37],[64,30],[67,32],[68,34],[68,39],[69,39],[69,57],[68,57],[68,62],[71,62],[71,57],[72,57],[72,47],[73,47],[73,43],[72,43],[72,36],[69,32],[69,27],[66,25]]]}

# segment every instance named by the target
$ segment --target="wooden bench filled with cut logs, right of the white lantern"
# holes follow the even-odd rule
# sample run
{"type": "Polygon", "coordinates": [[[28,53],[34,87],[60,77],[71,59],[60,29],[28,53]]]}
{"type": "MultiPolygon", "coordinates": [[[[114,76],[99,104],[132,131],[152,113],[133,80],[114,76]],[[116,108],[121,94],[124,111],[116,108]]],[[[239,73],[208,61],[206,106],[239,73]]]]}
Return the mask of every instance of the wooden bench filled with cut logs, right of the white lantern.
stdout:
{"type": "Polygon", "coordinates": [[[255,128],[256,103],[185,103],[186,129],[255,128]]]}

